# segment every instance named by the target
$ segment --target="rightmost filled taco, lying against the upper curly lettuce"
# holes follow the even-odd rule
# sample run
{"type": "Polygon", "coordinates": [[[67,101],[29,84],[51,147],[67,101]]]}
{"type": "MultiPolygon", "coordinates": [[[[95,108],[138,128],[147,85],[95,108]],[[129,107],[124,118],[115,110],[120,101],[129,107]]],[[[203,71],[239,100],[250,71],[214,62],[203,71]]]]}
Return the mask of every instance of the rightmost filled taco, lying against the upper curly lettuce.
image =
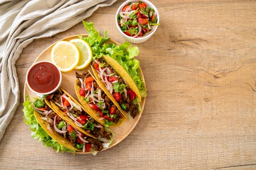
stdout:
{"type": "Polygon", "coordinates": [[[140,91],[116,60],[103,55],[101,58],[94,59],[91,67],[103,90],[107,90],[106,93],[112,102],[123,113],[127,113],[129,119],[141,113],[140,91]]]}

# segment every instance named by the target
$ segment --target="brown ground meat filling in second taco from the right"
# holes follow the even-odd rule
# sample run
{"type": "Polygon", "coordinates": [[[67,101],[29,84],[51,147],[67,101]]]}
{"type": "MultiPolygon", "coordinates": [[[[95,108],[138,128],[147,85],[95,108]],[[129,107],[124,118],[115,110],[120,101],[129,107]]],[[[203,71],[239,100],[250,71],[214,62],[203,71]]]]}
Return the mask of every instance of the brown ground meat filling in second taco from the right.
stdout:
{"type": "MultiPolygon", "coordinates": [[[[76,78],[81,78],[84,82],[84,79],[86,79],[87,77],[90,77],[90,72],[89,71],[84,71],[82,74],[78,74],[76,72],[76,78]]],[[[79,85],[79,87],[81,88],[81,82],[77,82],[77,85],[79,85]]],[[[96,81],[93,81],[93,87],[94,89],[96,88],[100,88],[99,85],[96,83],[96,81]]],[[[101,88],[100,88],[101,89],[101,88]]],[[[87,94],[88,90],[85,91],[85,94],[87,94]]],[[[116,105],[113,104],[113,102],[111,101],[111,99],[109,99],[109,97],[104,93],[104,91],[102,91],[102,98],[105,99],[105,105],[106,108],[105,110],[110,110],[111,107],[115,108],[116,110],[116,117],[114,118],[113,122],[117,123],[119,122],[119,119],[123,118],[122,113],[119,111],[119,109],[116,108],[116,105]]]]}

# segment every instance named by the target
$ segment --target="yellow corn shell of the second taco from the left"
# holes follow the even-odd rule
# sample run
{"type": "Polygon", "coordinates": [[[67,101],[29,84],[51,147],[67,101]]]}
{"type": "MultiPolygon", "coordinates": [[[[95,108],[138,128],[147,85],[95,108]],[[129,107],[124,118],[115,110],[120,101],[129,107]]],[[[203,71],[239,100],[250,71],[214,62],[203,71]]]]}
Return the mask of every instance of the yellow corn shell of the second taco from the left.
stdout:
{"type": "MultiPolygon", "coordinates": [[[[70,94],[68,94],[68,93],[67,93],[66,91],[64,91],[62,88],[61,88],[61,91],[63,91],[67,96],[70,97],[70,94]]],[[[78,105],[81,107],[81,105],[80,105],[72,96],[70,97],[70,99],[72,99],[76,104],[78,104],[78,105]]],[[[67,114],[64,113],[55,103],[53,103],[52,101],[50,101],[50,103],[49,103],[49,100],[47,100],[47,99],[45,99],[45,102],[46,102],[47,105],[51,105],[51,106],[52,106],[52,110],[53,110],[55,113],[57,113],[58,116],[61,116],[61,118],[62,118],[63,120],[65,120],[67,123],[69,123],[72,127],[76,128],[76,129],[79,130],[81,133],[84,133],[84,134],[87,135],[87,136],[90,136],[90,137],[92,137],[92,138],[94,138],[94,139],[98,139],[98,138],[96,138],[95,136],[86,133],[86,131],[85,131],[84,129],[82,129],[81,127],[79,127],[78,125],[76,125],[76,123],[75,123],[72,119],[70,119],[70,117],[67,116],[67,114]]],[[[81,108],[84,110],[83,107],[81,107],[81,108]]],[[[85,110],[84,110],[84,111],[85,111],[85,110]]]]}

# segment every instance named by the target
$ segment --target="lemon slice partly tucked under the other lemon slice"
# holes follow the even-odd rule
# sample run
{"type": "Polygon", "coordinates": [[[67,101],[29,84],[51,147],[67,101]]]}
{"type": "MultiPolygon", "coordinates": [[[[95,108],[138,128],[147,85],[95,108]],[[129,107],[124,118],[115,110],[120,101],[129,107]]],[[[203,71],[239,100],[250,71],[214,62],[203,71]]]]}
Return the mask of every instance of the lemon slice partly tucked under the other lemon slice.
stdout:
{"type": "Polygon", "coordinates": [[[93,59],[93,51],[90,48],[88,42],[81,39],[73,39],[70,40],[71,43],[77,46],[80,52],[80,59],[78,65],[76,65],[75,69],[81,70],[87,67],[93,59]]]}

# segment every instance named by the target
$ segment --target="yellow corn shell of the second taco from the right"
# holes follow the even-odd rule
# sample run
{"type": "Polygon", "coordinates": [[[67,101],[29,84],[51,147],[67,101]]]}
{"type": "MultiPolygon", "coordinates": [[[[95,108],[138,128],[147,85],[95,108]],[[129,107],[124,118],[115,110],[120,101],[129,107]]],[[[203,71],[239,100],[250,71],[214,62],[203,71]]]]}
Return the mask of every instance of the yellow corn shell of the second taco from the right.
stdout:
{"type": "MultiPolygon", "coordinates": [[[[89,70],[88,70],[89,71],[89,70]]],[[[99,84],[99,82],[97,81],[97,79],[93,76],[93,74],[89,71],[90,75],[93,77],[93,79],[96,81],[96,83],[99,85],[100,88],[102,88],[102,90],[105,92],[105,94],[111,99],[111,96],[109,96],[104,88],[104,86],[102,86],[101,84],[99,84]]],[[[95,119],[97,122],[100,122],[100,124],[104,125],[105,123],[105,119],[102,119],[99,121],[99,116],[97,116],[97,111],[93,108],[90,108],[88,103],[84,100],[84,96],[80,96],[79,94],[79,85],[77,85],[76,83],[80,82],[79,79],[76,79],[75,82],[75,91],[76,91],[76,96],[78,97],[79,101],[81,102],[81,104],[84,106],[85,110],[87,111],[87,113],[93,117],[93,119],[95,119]]],[[[107,90],[108,91],[108,90],[107,90]]],[[[114,103],[115,104],[115,103],[114,103]]],[[[116,105],[116,104],[115,104],[116,105]]],[[[116,105],[117,106],[117,105],[116,105]]],[[[117,107],[119,109],[119,107],[117,107]]],[[[122,125],[123,122],[125,122],[127,120],[127,117],[125,116],[125,113],[122,112],[122,110],[119,109],[119,111],[123,114],[123,118],[121,120],[119,120],[119,122],[117,123],[112,123],[110,125],[110,127],[118,127],[120,125],[122,125]]]]}

